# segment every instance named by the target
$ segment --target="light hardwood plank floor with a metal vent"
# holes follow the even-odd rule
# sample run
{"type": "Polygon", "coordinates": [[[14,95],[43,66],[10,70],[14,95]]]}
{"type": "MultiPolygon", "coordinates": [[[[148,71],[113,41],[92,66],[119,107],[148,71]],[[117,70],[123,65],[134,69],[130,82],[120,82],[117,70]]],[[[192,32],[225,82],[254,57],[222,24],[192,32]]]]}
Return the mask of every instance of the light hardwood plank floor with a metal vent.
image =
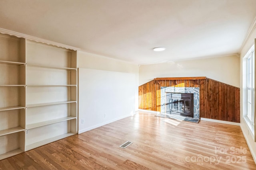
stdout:
{"type": "Polygon", "coordinates": [[[0,161],[2,170],[255,170],[239,126],[140,112],[0,161]],[[126,141],[132,145],[119,146],[126,141]]]}

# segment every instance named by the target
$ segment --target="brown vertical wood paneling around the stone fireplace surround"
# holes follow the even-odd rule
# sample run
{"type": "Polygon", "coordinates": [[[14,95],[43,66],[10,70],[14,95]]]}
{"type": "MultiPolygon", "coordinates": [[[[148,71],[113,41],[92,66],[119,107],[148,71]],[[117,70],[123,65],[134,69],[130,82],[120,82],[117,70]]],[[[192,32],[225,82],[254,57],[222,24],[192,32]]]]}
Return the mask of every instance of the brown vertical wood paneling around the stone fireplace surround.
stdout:
{"type": "Polygon", "coordinates": [[[240,123],[240,88],[206,77],[155,78],[139,86],[139,109],[160,111],[161,86],[199,87],[200,117],[240,123]]]}

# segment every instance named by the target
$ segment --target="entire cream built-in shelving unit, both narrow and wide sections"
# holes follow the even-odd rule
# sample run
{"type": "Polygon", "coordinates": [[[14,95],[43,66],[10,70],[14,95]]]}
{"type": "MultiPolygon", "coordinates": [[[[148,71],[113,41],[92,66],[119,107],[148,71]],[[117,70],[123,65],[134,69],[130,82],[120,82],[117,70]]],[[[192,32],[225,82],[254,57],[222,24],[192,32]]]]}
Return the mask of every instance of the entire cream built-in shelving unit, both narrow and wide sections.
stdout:
{"type": "Polygon", "coordinates": [[[5,34],[0,49],[0,160],[76,134],[76,51],[5,34]]]}

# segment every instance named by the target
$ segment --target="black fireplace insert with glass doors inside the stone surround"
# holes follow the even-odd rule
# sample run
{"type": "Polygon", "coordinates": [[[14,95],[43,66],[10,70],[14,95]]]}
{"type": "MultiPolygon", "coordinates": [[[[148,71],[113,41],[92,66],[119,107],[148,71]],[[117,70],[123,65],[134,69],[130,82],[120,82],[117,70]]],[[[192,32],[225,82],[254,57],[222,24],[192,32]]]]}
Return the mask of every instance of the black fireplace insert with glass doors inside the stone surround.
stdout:
{"type": "Polygon", "coordinates": [[[194,94],[166,92],[166,108],[168,114],[194,117],[194,94]]]}

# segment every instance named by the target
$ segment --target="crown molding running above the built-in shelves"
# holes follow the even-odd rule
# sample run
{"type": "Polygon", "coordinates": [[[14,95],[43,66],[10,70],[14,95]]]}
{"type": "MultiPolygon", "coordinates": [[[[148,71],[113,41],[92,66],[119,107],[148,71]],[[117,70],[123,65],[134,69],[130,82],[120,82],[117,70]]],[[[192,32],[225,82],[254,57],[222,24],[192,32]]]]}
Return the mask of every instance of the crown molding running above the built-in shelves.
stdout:
{"type": "Polygon", "coordinates": [[[26,34],[23,34],[23,33],[10,31],[10,30],[3,29],[3,28],[0,28],[0,33],[8,34],[8,35],[14,35],[14,36],[19,37],[19,38],[25,38],[25,39],[29,39],[31,41],[36,41],[38,43],[45,43],[45,44],[48,44],[48,45],[54,45],[54,46],[62,47],[62,48],[65,48],[65,49],[71,49],[71,50],[75,50],[75,51],[80,50],[79,48],[76,48],[76,47],[72,47],[72,46],[69,46],[69,45],[64,45],[64,44],[61,44],[61,43],[56,43],[56,42],[53,42],[53,41],[48,41],[46,39],[33,37],[31,35],[26,35],[26,34]]]}

